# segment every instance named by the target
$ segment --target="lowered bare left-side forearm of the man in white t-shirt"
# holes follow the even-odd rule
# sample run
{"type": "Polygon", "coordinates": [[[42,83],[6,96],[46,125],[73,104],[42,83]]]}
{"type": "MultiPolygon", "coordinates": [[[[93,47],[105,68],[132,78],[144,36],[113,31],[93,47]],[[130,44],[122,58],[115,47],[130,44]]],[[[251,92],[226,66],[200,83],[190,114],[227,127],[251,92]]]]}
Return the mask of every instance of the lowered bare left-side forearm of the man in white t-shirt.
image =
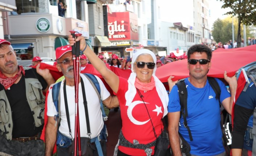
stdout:
{"type": "Polygon", "coordinates": [[[45,132],[45,156],[53,155],[53,147],[56,142],[58,127],[58,124],[55,125],[55,122],[54,117],[48,117],[45,132]]]}

